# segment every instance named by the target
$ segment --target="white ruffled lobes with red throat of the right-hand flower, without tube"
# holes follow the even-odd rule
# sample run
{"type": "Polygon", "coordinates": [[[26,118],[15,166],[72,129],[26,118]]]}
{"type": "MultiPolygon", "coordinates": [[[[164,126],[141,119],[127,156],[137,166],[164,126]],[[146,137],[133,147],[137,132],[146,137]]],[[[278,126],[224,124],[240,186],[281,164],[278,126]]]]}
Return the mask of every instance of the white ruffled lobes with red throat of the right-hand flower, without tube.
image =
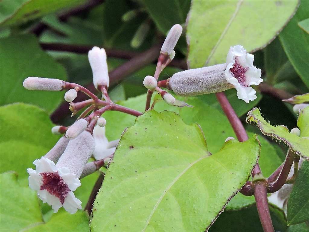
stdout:
{"type": "Polygon", "coordinates": [[[256,91],[249,85],[258,85],[263,80],[261,70],[253,66],[254,55],[246,53],[243,46],[231,47],[226,57],[226,80],[234,85],[237,97],[246,103],[256,99],[256,91]]]}

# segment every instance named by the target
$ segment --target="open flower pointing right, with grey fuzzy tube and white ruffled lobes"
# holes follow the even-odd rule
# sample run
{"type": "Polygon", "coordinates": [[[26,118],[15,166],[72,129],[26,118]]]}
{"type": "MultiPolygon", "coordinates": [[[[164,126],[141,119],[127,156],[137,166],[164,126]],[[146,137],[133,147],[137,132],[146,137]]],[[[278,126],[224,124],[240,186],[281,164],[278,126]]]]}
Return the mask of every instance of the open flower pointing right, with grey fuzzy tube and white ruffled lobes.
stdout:
{"type": "Polygon", "coordinates": [[[236,88],[239,99],[246,103],[256,99],[250,85],[263,80],[261,70],[253,65],[254,55],[246,53],[243,46],[231,47],[225,64],[189,69],[175,73],[167,80],[167,87],[180,96],[196,96],[236,88]]]}

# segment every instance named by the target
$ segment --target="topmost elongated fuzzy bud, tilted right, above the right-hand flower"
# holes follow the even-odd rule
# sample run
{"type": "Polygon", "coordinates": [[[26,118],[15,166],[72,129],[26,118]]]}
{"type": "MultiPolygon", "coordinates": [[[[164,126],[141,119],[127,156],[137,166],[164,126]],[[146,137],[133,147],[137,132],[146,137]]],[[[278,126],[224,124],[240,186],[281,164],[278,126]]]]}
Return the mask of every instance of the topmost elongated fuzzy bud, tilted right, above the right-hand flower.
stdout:
{"type": "Polygon", "coordinates": [[[171,30],[168,32],[166,39],[162,45],[161,53],[171,55],[174,50],[176,43],[182,33],[182,27],[179,24],[172,26],[171,30]]]}

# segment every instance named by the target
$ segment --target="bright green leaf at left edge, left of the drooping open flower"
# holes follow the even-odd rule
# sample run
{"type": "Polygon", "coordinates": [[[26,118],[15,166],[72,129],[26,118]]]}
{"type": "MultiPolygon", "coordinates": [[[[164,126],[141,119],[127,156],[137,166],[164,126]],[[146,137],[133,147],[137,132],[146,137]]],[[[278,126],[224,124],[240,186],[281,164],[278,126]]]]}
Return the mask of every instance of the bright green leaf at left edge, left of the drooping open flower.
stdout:
{"type": "Polygon", "coordinates": [[[34,105],[1,106],[1,172],[16,171],[28,185],[27,168],[35,168],[32,162],[44,156],[60,138],[51,133],[52,127],[47,112],[34,105]]]}

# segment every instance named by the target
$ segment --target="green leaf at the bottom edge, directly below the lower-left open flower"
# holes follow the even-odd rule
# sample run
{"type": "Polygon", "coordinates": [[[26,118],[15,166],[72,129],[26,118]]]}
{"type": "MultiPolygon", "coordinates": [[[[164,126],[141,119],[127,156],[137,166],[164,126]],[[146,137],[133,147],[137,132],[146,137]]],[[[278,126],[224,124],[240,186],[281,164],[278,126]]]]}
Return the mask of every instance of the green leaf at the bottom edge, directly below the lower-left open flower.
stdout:
{"type": "Polygon", "coordinates": [[[23,231],[89,232],[89,217],[87,213],[82,210],[70,214],[63,208],[60,208],[58,213],[53,213],[51,219],[47,223],[23,231]]]}

